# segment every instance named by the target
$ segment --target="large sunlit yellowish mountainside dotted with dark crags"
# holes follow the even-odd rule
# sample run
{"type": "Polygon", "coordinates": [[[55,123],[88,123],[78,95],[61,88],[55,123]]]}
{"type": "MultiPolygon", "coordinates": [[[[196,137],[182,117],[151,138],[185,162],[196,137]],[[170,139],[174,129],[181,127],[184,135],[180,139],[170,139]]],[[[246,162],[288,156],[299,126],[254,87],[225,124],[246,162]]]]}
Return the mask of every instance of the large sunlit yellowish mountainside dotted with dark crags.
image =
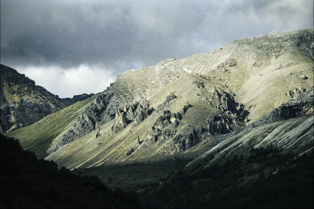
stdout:
{"type": "Polygon", "coordinates": [[[45,136],[41,153],[71,169],[202,153],[307,93],[313,85],[312,55],[313,28],[241,39],[119,75],[86,107],[75,108],[76,119],[59,135],[46,137],[35,125],[9,135],[31,150],[38,150],[45,136]],[[30,143],[35,132],[36,144],[30,143]]]}

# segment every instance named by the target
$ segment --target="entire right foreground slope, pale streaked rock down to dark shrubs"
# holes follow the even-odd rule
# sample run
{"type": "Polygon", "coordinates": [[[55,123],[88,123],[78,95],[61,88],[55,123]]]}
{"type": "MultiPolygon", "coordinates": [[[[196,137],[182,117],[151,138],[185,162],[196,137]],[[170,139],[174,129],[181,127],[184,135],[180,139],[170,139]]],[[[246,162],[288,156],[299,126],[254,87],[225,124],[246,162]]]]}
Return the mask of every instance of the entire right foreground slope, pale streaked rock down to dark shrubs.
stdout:
{"type": "Polygon", "coordinates": [[[210,148],[143,191],[143,201],[161,208],[312,207],[313,94],[312,87],[210,148]]]}

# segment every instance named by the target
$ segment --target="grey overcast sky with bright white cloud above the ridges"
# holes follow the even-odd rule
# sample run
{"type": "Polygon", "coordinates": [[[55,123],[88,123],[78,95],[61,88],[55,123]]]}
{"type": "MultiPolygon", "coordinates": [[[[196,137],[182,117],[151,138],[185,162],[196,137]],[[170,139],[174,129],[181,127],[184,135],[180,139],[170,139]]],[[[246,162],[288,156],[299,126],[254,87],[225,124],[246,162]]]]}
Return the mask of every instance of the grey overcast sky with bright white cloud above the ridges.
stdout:
{"type": "Polygon", "coordinates": [[[61,98],[233,40],[313,27],[313,1],[1,0],[1,64],[61,98]]]}

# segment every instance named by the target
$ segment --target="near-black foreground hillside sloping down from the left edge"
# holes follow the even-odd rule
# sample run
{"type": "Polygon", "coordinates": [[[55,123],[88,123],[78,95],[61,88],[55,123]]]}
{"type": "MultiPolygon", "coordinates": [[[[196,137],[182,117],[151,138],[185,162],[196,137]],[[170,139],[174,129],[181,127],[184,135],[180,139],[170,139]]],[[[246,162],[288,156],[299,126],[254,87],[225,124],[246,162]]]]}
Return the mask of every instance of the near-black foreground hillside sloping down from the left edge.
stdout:
{"type": "Polygon", "coordinates": [[[135,197],[112,191],[96,176],[79,177],[37,159],[1,135],[1,208],[138,208],[135,197]]]}

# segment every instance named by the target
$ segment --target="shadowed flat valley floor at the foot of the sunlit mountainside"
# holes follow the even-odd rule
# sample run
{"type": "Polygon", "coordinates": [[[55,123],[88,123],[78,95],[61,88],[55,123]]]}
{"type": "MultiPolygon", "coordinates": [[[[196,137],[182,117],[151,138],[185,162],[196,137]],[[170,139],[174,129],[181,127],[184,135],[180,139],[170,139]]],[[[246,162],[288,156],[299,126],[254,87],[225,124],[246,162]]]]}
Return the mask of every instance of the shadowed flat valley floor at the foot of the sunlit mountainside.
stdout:
{"type": "Polygon", "coordinates": [[[72,172],[81,176],[98,176],[100,181],[111,188],[140,192],[160,184],[201,154],[201,152],[178,153],[163,158],[79,168],[72,172]]]}

